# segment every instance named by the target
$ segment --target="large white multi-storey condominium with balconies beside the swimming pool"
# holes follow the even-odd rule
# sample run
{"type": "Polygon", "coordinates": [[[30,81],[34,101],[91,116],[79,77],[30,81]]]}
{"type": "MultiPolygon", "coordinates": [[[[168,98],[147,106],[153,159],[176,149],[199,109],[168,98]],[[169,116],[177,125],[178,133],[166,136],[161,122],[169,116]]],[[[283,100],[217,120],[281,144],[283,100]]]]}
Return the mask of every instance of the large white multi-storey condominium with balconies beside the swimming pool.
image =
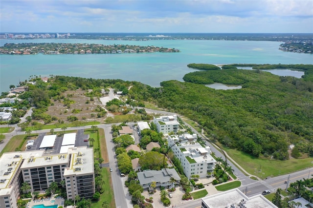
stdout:
{"type": "Polygon", "coordinates": [[[29,191],[44,191],[52,182],[65,180],[67,199],[91,198],[95,192],[93,149],[69,148],[63,154],[45,150],[8,152],[0,157],[0,208],[17,208],[23,182],[29,191]]]}

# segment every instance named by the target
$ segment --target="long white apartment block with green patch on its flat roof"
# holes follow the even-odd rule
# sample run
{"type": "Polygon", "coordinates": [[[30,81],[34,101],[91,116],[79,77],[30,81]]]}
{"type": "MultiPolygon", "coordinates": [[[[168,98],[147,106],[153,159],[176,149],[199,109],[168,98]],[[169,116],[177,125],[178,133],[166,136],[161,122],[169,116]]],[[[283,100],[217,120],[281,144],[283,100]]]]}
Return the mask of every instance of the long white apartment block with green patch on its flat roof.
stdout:
{"type": "Polygon", "coordinates": [[[215,168],[216,161],[210,155],[209,146],[202,147],[197,142],[196,134],[171,135],[167,137],[168,146],[173,150],[183,167],[187,178],[192,175],[206,177],[215,168]]]}

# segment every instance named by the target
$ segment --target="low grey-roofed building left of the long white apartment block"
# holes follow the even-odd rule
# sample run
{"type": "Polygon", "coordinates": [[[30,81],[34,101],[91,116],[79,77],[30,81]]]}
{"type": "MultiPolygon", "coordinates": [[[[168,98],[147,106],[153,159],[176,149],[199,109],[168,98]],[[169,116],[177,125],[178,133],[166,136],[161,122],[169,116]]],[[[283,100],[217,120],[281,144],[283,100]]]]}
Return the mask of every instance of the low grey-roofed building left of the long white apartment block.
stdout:
{"type": "Polygon", "coordinates": [[[156,187],[169,187],[178,184],[179,174],[174,168],[163,168],[161,170],[144,170],[137,173],[140,186],[151,188],[151,184],[156,182],[156,187]],[[173,178],[174,181],[171,179],[173,178]]]}

